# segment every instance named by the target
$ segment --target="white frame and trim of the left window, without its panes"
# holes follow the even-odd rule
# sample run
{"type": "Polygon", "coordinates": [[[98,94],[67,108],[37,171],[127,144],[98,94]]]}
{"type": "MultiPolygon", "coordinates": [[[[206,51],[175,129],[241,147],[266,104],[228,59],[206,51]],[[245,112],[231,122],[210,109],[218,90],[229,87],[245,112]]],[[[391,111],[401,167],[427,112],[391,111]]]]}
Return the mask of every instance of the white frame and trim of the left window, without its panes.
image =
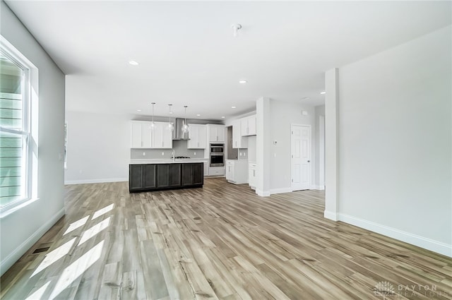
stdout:
{"type": "MultiPolygon", "coordinates": [[[[18,208],[22,208],[28,203],[37,200],[37,149],[36,160],[33,159],[33,147],[30,145],[32,142],[32,124],[37,121],[32,120],[32,80],[36,79],[37,73],[33,74],[33,70],[37,72],[37,68],[23,56],[13,45],[11,45],[2,35],[0,35],[0,52],[7,59],[11,60],[13,64],[16,64],[23,70],[22,76],[22,128],[20,130],[13,128],[5,128],[0,126],[0,131],[4,133],[12,133],[22,137],[22,166],[20,168],[21,180],[20,191],[23,192],[23,197],[11,201],[4,206],[0,207],[0,218],[9,215],[11,212],[16,211],[18,208]],[[36,78],[34,78],[36,77],[36,78]]],[[[37,100],[37,99],[36,99],[37,100]]],[[[37,132],[37,131],[36,131],[37,132]]]]}

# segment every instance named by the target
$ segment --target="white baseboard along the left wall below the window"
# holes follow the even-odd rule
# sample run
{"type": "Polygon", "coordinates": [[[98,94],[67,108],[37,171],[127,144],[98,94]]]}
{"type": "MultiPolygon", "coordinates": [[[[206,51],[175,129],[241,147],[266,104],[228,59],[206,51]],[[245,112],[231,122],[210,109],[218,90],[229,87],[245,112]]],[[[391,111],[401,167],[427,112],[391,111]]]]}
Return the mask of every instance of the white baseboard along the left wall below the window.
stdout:
{"type": "Polygon", "coordinates": [[[16,263],[16,261],[25,254],[40,238],[43,236],[61,217],[64,216],[64,208],[61,208],[53,217],[47,222],[42,224],[42,226],[35,231],[28,239],[23,241],[20,246],[18,246],[14,251],[8,254],[0,264],[0,275],[4,275],[11,266],[16,263]]]}

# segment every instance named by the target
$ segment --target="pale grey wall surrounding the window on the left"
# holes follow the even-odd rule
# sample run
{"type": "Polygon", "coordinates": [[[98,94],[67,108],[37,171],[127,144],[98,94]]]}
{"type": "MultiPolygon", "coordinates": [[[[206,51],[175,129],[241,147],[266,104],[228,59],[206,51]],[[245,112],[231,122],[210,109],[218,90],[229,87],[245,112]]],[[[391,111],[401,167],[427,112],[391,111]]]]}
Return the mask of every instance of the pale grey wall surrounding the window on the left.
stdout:
{"type": "Polygon", "coordinates": [[[3,1],[0,30],[39,69],[38,200],[0,219],[0,272],[4,274],[64,215],[64,73],[3,1]]]}

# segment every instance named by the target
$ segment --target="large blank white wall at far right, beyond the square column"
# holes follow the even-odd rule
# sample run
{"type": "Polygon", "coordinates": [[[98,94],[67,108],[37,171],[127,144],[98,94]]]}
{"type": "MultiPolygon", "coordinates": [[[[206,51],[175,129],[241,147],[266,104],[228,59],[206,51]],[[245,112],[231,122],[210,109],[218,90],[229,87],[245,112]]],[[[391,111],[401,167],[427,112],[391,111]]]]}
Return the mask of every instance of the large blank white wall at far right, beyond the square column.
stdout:
{"type": "Polygon", "coordinates": [[[338,86],[339,220],[448,256],[451,36],[448,26],[344,66],[338,86]]]}

